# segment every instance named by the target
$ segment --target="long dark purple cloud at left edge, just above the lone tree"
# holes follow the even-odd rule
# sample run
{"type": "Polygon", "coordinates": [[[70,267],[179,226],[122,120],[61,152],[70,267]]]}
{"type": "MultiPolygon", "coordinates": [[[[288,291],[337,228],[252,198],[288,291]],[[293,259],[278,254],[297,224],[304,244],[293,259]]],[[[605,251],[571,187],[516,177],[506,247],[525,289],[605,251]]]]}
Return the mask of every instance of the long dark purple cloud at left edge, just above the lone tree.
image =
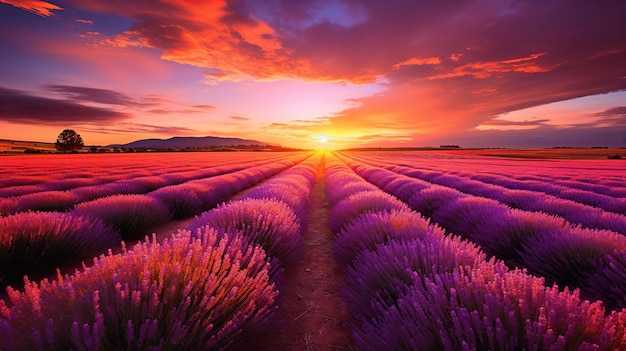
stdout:
{"type": "Polygon", "coordinates": [[[55,100],[0,87],[0,120],[14,123],[111,123],[131,116],[115,110],[55,100]]]}

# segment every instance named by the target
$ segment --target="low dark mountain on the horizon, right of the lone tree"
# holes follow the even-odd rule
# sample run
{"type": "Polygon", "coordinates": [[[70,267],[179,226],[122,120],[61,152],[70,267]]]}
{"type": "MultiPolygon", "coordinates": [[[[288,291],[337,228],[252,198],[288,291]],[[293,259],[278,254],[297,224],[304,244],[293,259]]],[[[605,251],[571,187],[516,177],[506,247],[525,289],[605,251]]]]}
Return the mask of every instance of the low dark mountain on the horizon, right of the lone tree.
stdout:
{"type": "Polygon", "coordinates": [[[173,137],[169,139],[143,139],[130,142],[128,144],[113,144],[108,147],[132,147],[147,149],[184,148],[184,147],[211,147],[211,146],[235,146],[235,145],[272,145],[270,143],[240,139],[240,138],[220,138],[220,137],[173,137]]]}

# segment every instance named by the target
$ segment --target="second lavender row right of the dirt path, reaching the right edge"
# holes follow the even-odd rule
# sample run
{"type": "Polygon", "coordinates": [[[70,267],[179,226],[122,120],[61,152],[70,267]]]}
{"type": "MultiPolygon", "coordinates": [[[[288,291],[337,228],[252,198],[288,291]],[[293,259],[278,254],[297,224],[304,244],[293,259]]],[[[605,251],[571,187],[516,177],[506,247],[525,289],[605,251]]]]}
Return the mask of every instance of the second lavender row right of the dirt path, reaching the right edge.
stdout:
{"type": "Polygon", "coordinates": [[[351,162],[366,180],[405,201],[449,232],[468,238],[507,264],[524,267],[587,299],[626,307],[626,237],[574,226],[541,212],[511,209],[369,165],[351,162]],[[606,282],[612,282],[606,285],[606,282]]]}

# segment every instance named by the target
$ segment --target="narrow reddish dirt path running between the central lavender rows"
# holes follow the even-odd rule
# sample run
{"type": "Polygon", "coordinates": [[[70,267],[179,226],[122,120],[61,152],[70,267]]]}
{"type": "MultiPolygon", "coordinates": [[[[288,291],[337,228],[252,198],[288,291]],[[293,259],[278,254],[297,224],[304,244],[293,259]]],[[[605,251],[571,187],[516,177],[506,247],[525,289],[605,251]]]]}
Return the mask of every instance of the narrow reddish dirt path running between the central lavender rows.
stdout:
{"type": "Polygon", "coordinates": [[[333,235],[326,225],[323,164],[311,191],[305,253],[285,272],[285,300],[279,319],[284,325],[260,344],[260,350],[355,350],[347,326],[348,313],[341,296],[342,273],[331,254],[333,235]]]}

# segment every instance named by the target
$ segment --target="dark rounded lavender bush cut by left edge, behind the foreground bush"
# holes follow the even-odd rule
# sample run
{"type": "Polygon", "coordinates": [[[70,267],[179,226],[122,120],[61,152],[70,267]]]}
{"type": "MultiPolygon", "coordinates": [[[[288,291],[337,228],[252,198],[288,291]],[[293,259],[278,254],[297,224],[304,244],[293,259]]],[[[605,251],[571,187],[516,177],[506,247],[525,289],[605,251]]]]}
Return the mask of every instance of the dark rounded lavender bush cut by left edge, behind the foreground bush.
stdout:
{"type": "Polygon", "coordinates": [[[96,218],[23,212],[0,218],[0,283],[50,274],[120,244],[120,234],[96,218]]]}

